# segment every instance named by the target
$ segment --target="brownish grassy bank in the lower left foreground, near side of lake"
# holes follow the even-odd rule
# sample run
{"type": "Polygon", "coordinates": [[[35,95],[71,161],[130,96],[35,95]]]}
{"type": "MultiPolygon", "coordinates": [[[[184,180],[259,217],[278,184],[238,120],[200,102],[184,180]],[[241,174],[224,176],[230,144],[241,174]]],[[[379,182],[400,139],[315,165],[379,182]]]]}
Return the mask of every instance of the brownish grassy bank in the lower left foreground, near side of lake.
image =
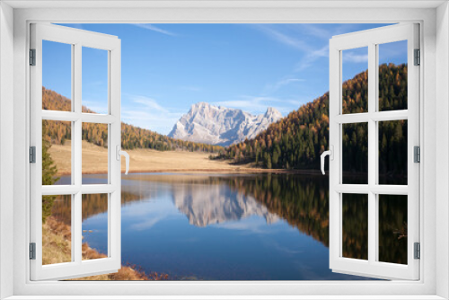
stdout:
{"type": "MultiPolygon", "coordinates": [[[[47,222],[42,225],[42,264],[55,264],[71,260],[71,228],[62,222],[58,222],[52,216],[47,218],[47,222]]],[[[99,253],[89,247],[88,243],[83,243],[83,260],[95,260],[106,258],[105,254],[99,253]]],[[[73,280],[163,280],[167,279],[165,274],[157,273],[145,274],[134,266],[122,266],[117,273],[96,275],[73,280]]]]}

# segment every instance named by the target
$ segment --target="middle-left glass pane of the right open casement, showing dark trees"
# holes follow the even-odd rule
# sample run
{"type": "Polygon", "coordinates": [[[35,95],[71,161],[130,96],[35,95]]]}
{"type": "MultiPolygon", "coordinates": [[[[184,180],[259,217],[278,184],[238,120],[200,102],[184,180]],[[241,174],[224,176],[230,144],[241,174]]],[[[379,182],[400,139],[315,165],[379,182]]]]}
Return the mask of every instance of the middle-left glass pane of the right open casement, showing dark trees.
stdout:
{"type": "Polygon", "coordinates": [[[368,183],[368,123],[343,124],[343,183],[368,183]]]}

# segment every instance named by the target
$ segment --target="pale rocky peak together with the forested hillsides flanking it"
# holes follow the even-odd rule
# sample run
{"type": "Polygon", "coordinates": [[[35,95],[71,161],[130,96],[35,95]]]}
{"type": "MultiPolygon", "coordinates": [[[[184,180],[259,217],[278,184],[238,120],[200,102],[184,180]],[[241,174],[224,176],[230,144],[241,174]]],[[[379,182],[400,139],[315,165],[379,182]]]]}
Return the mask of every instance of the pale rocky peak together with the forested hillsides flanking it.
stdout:
{"type": "MultiPolygon", "coordinates": [[[[406,110],[407,84],[407,65],[380,65],[379,110],[406,110]]],[[[367,110],[367,86],[367,71],[342,84],[344,113],[367,110]]],[[[42,88],[42,93],[42,109],[70,110],[69,99],[45,88],[42,88]]],[[[92,113],[86,107],[83,111],[92,113]]],[[[70,122],[44,120],[42,126],[44,138],[51,144],[64,144],[66,139],[71,139],[70,122]]],[[[366,124],[347,124],[343,129],[344,170],[365,173],[366,124]]],[[[380,173],[390,176],[406,173],[407,155],[402,154],[406,153],[407,134],[407,120],[379,123],[380,173]]],[[[251,116],[242,110],[200,102],[176,123],[170,134],[176,138],[125,123],[122,123],[121,136],[124,149],[220,153],[215,158],[233,160],[234,163],[255,163],[268,169],[318,170],[320,154],[329,146],[329,93],[293,110],[285,118],[281,118],[274,109],[267,110],[264,115],[251,116]],[[209,117],[211,120],[208,121],[209,117]],[[199,144],[188,139],[201,134],[207,143],[199,144]]],[[[84,123],[83,137],[95,145],[107,146],[107,130],[103,124],[84,123]]]]}

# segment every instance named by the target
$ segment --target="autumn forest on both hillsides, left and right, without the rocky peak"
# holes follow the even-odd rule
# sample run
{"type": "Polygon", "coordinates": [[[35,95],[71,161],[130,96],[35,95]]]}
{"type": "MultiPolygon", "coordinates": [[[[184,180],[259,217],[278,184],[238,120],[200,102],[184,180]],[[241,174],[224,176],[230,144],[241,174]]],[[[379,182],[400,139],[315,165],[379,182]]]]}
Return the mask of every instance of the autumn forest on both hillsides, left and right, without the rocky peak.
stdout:
{"type": "MultiPolygon", "coordinates": [[[[379,76],[379,110],[407,109],[407,65],[382,65],[379,76]]],[[[365,71],[344,82],[343,113],[367,111],[367,78],[368,73],[365,71]]],[[[71,101],[66,97],[46,88],[43,88],[42,92],[44,110],[71,109],[71,101]]],[[[94,113],[86,107],[83,107],[83,111],[94,113]]],[[[45,139],[51,144],[61,145],[71,138],[70,122],[43,122],[46,128],[45,139]]],[[[343,134],[344,172],[365,173],[367,124],[345,124],[343,134]]],[[[124,149],[207,152],[212,153],[211,159],[224,159],[236,164],[251,163],[259,168],[318,170],[320,154],[328,148],[329,93],[290,112],[286,118],[271,124],[257,137],[226,148],[173,139],[126,123],[122,123],[121,136],[121,146],[124,149]]],[[[84,123],[83,139],[94,145],[107,147],[106,125],[84,123]]],[[[406,153],[406,141],[407,120],[385,121],[379,124],[380,173],[387,178],[396,175],[404,177],[406,174],[407,157],[402,155],[406,153]]]]}

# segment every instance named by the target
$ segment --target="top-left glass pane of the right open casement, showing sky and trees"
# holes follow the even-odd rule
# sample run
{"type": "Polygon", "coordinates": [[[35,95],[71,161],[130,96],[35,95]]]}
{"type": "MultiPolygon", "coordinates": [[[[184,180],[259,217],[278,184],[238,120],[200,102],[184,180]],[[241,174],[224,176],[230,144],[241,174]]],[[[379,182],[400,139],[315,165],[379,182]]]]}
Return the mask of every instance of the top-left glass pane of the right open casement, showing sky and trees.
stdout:
{"type": "Polygon", "coordinates": [[[343,113],[368,111],[368,48],[342,51],[343,113]]]}

